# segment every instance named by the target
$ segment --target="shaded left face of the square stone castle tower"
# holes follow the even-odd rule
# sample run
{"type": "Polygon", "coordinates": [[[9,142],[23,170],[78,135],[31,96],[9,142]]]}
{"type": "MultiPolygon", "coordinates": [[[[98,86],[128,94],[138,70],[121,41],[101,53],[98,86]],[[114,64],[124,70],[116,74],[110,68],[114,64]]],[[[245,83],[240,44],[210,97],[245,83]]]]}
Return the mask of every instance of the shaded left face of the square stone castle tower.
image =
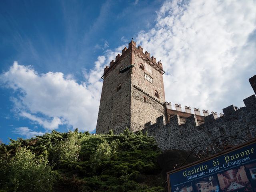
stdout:
{"type": "Polygon", "coordinates": [[[120,68],[130,65],[129,50],[123,55],[121,62],[116,61],[115,68],[104,77],[100,108],[96,126],[96,134],[108,133],[113,130],[115,134],[121,133],[130,127],[130,72],[120,74],[120,68]],[[117,91],[118,85],[121,89],[117,91]]]}

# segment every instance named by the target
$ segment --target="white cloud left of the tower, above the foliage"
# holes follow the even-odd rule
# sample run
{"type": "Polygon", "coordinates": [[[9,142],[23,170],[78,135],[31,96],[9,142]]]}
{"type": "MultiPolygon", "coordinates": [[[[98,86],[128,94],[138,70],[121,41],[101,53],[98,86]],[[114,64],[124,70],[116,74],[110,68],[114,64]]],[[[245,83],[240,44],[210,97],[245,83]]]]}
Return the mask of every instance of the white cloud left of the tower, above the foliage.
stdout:
{"type": "Polygon", "coordinates": [[[93,76],[89,75],[87,84],[78,84],[70,77],[64,78],[60,72],[38,74],[31,66],[14,62],[0,79],[5,86],[21,93],[12,99],[19,116],[40,124],[46,130],[67,124],[92,131],[96,127],[102,88],[100,78],[96,81],[93,76]]]}

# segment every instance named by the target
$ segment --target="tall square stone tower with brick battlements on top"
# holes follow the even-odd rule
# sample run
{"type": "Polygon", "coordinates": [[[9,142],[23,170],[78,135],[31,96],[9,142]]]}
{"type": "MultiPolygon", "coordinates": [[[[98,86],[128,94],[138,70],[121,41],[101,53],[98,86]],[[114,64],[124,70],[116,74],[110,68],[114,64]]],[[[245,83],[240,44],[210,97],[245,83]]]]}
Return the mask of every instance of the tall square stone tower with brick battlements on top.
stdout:
{"type": "Polygon", "coordinates": [[[104,69],[96,133],[137,131],[165,118],[163,74],[162,63],[132,40],[104,69]]]}

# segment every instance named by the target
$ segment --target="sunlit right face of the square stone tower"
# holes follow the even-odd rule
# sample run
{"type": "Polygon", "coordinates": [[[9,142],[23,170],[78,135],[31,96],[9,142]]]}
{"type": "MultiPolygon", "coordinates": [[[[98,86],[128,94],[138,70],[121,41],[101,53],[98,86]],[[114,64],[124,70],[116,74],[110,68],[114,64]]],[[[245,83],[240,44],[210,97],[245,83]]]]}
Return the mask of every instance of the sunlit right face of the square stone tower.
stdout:
{"type": "Polygon", "coordinates": [[[134,48],[132,57],[131,130],[137,131],[143,129],[146,122],[156,122],[157,117],[165,115],[165,95],[162,74],[145,61],[145,54],[134,48]],[[152,82],[146,80],[145,74],[152,78],[152,82]],[[159,98],[155,96],[155,90],[159,98]]]}

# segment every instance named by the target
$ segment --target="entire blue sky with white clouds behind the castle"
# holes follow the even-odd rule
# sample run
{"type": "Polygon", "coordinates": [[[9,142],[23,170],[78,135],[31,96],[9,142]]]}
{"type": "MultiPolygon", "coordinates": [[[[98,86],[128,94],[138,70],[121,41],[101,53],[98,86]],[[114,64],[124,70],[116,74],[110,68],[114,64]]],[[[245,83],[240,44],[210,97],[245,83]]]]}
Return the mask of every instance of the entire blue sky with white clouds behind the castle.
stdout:
{"type": "Polygon", "coordinates": [[[256,2],[0,2],[0,140],[93,132],[103,68],[133,37],[162,60],[166,100],[222,112],[253,94],[256,2]]]}

